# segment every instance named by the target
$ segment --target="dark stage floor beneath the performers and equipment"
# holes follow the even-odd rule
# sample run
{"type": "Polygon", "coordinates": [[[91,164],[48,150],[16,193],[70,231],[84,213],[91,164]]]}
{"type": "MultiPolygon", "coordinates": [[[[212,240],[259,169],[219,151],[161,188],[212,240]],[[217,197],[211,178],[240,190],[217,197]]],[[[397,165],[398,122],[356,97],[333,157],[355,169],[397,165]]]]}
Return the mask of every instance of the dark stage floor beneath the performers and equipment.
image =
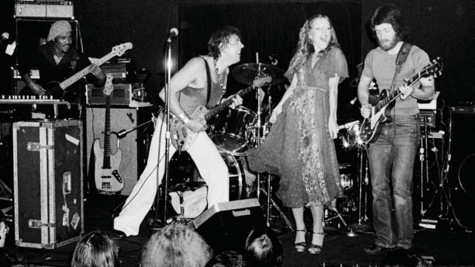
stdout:
{"type": "MultiPolygon", "coordinates": [[[[114,209],[121,204],[124,196],[88,197],[85,204],[85,231],[95,229],[111,230],[114,209]]],[[[159,209],[161,210],[161,209],[159,209]]],[[[293,222],[290,210],[282,209],[287,218],[293,222]]],[[[264,212],[265,214],[265,212],[264,212]]],[[[276,212],[273,212],[276,214],[276,212]]],[[[311,220],[306,211],[306,220],[311,220]]],[[[344,214],[343,214],[344,215],[344,214]]],[[[140,234],[117,241],[120,247],[120,259],[123,266],[139,266],[141,249],[151,233],[150,224],[154,222],[154,212],[150,211],[141,225],[140,234]]],[[[159,217],[160,218],[160,217],[159,217]]],[[[357,223],[352,216],[343,216],[348,224],[357,223]]],[[[324,248],[320,255],[297,253],[293,248],[294,233],[291,232],[280,217],[271,220],[272,227],[280,234],[284,249],[284,267],[315,266],[378,266],[384,254],[368,255],[364,248],[373,242],[371,227],[365,232],[356,232],[348,236],[348,231],[337,218],[326,224],[324,248]],[[338,228],[340,226],[340,228],[338,228]],[[324,265],[325,264],[325,265],[324,265]]],[[[309,225],[309,224],[308,224],[309,225]]],[[[307,234],[310,242],[311,235],[307,234]]],[[[75,243],[54,250],[31,249],[14,245],[14,229],[10,223],[7,236],[7,250],[23,257],[31,266],[69,266],[75,243]]],[[[456,225],[442,229],[418,228],[415,231],[414,251],[427,259],[433,259],[432,266],[475,266],[475,238],[473,232],[463,231],[456,225]]]]}

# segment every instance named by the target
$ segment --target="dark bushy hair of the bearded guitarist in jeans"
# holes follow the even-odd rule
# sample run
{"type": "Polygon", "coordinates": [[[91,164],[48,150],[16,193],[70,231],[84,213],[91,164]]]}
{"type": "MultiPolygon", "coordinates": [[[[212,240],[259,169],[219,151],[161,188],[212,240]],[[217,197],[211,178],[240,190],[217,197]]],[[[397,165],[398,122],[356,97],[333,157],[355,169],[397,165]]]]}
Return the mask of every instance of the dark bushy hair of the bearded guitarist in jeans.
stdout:
{"type": "Polygon", "coordinates": [[[374,37],[376,37],[375,26],[383,23],[391,24],[401,41],[406,39],[408,28],[402,17],[401,10],[394,4],[387,4],[376,9],[375,14],[371,18],[371,29],[373,30],[374,37]]]}

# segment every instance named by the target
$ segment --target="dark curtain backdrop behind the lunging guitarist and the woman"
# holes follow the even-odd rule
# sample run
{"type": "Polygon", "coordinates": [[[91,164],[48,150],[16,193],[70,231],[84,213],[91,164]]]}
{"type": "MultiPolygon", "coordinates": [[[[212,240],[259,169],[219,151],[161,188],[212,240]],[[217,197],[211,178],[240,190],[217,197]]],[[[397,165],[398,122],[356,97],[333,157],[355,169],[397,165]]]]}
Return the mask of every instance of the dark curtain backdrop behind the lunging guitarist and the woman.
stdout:
{"type": "MultiPolygon", "coordinates": [[[[361,60],[360,1],[182,4],[178,11],[180,61],[185,63],[191,57],[206,54],[210,34],[221,26],[232,25],[241,30],[244,44],[237,65],[255,63],[258,52],[261,63],[270,64],[269,56],[274,55],[278,59],[277,66],[285,71],[295,51],[300,27],[306,19],[318,13],[332,20],[348,62],[350,78],[340,85],[338,97],[338,115],[344,120],[349,113],[347,103],[356,96],[356,87],[350,87],[350,82],[357,76],[356,65],[361,60]]],[[[244,87],[246,85],[230,76],[228,94],[244,87]]],[[[274,86],[275,103],[280,98],[274,94],[280,97],[284,90],[282,85],[274,86]]],[[[244,101],[244,106],[256,109],[254,95],[247,96],[244,101]]]]}

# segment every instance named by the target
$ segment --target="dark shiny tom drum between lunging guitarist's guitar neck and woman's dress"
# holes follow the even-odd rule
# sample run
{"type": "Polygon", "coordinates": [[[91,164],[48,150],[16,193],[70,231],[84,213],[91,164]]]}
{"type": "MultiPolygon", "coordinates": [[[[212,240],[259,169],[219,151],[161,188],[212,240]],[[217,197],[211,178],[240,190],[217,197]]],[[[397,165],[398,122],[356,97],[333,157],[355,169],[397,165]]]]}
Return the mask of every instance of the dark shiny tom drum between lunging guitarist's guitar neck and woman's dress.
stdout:
{"type": "Polygon", "coordinates": [[[228,109],[216,116],[209,127],[211,140],[220,151],[243,156],[249,148],[248,132],[254,128],[257,114],[243,106],[228,109]]]}

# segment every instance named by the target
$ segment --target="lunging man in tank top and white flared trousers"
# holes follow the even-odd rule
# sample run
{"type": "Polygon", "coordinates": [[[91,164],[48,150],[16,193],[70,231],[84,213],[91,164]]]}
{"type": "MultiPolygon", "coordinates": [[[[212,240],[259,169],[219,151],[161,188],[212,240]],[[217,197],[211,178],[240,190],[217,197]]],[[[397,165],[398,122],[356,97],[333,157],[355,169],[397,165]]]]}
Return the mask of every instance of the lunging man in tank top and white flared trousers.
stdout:
{"type": "MultiPolygon", "coordinates": [[[[216,145],[204,132],[206,130],[204,118],[193,117],[192,114],[197,106],[214,106],[222,100],[226,92],[228,67],[239,62],[242,47],[244,45],[240,41],[238,29],[231,26],[219,29],[208,41],[208,55],[191,58],[170,81],[170,112],[179,118],[186,128],[197,133],[187,152],[208,186],[208,207],[229,201],[228,167],[216,145]],[[206,101],[208,84],[211,88],[209,100],[206,101]]],[[[165,101],[164,89],[159,95],[165,101]]],[[[231,108],[242,103],[239,96],[231,97],[234,101],[231,108]]],[[[112,233],[115,239],[139,234],[140,224],[152,206],[159,185],[157,178],[161,182],[166,164],[164,122],[166,121],[163,116],[159,116],[150,142],[147,165],[119,216],[114,219],[112,233]]],[[[174,146],[170,146],[170,158],[176,150],[174,146]]]]}

